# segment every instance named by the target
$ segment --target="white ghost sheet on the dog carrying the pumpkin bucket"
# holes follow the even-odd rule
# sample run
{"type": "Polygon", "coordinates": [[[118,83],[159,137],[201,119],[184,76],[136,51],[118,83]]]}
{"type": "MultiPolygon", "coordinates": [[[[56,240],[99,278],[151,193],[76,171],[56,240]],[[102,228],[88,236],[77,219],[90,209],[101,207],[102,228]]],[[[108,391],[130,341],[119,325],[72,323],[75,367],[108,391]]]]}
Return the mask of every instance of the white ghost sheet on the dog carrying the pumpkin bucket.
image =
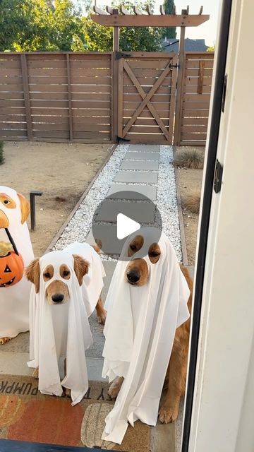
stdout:
{"type": "MultiPolygon", "coordinates": [[[[16,204],[16,208],[9,208],[8,204],[0,203],[0,217],[8,218],[10,232],[16,244],[18,253],[23,257],[25,266],[34,258],[28,225],[22,224],[21,202],[15,190],[0,186],[0,194],[6,194],[16,204]]],[[[6,230],[0,227],[0,242],[10,242],[6,230]]],[[[1,283],[1,281],[0,281],[1,283]]],[[[0,287],[0,338],[14,338],[18,333],[29,329],[29,296],[31,283],[23,278],[10,287],[0,287]]]]}

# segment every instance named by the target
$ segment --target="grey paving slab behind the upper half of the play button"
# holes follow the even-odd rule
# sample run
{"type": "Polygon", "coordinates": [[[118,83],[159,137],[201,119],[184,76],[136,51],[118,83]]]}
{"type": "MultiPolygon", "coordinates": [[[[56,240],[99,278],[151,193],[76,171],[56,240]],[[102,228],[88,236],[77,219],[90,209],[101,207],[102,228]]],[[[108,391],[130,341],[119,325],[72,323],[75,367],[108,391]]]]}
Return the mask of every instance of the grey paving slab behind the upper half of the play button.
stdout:
{"type": "Polygon", "coordinates": [[[123,213],[133,220],[143,223],[152,223],[155,220],[155,204],[120,201],[107,201],[102,203],[96,221],[116,221],[117,214],[123,213]],[[121,208],[121,210],[119,210],[121,208]]]}

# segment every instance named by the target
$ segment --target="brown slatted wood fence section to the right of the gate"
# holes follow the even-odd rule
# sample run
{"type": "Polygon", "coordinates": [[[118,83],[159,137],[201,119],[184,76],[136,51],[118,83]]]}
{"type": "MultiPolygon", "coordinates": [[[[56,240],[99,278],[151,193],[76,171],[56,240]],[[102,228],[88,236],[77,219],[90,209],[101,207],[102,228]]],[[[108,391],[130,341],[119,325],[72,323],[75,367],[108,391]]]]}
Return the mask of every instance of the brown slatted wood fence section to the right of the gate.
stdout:
{"type": "Polygon", "coordinates": [[[175,144],[205,145],[212,85],[213,52],[186,52],[181,87],[180,136],[175,144]]]}

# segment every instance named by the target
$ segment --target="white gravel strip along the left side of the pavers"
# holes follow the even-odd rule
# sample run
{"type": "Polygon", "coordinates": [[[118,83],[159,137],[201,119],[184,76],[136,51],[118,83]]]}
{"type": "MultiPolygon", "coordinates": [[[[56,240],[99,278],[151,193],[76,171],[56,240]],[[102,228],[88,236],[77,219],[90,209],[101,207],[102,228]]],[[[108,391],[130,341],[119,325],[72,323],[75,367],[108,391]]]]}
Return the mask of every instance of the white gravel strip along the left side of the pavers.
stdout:
{"type": "Polygon", "coordinates": [[[92,184],[90,191],[85,196],[83,202],[80,204],[78,210],[71,218],[71,221],[66,226],[66,229],[59,237],[54,245],[54,249],[63,249],[68,244],[75,241],[85,242],[88,232],[92,227],[92,217],[95,213],[99,203],[107,196],[114,177],[119,172],[119,167],[126,155],[129,145],[119,144],[114,153],[111,155],[109,161],[99,173],[99,176],[92,184]]]}

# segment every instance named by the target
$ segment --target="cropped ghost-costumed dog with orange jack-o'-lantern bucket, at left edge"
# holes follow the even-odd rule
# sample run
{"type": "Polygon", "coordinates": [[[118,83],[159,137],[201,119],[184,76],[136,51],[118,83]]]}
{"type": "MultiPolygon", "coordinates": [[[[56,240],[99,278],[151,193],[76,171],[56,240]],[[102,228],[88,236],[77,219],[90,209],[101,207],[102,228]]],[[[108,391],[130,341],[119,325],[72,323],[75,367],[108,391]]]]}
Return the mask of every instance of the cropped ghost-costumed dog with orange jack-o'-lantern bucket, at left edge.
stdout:
{"type": "MultiPolygon", "coordinates": [[[[30,234],[26,220],[29,215],[29,203],[25,197],[15,190],[6,186],[0,186],[0,243],[1,246],[16,246],[18,254],[22,256],[24,266],[28,265],[34,257],[30,234]],[[9,235],[8,235],[9,234],[9,235]]],[[[11,249],[10,246],[10,249],[11,249]]],[[[11,254],[12,251],[8,251],[11,254]]],[[[7,256],[8,256],[7,253],[7,256]]],[[[0,266],[6,256],[0,257],[0,266]]],[[[18,333],[29,329],[29,295],[31,285],[26,278],[21,275],[21,279],[16,283],[13,278],[11,266],[4,264],[5,268],[0,272],[0,343],[14,338],[18,333]],[[6,281],[6,272],[9,273],[10,280],[6,281]]]]}

